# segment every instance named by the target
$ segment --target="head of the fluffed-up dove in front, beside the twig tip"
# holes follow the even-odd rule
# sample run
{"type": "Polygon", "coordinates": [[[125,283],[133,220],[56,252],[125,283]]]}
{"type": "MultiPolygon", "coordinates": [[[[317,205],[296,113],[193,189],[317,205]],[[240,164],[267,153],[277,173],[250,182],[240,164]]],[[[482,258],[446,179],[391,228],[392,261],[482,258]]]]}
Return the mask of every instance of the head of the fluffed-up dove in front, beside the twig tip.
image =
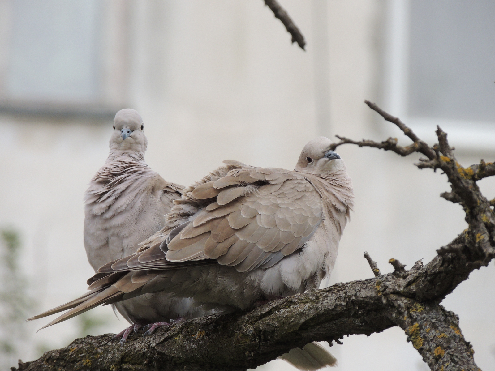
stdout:
{"type": "Polygon", "coordinates": [[[331,144],[332,141],[326,137],[311,139],[302,148],[295,170],[315,175],[345,170],[346,164],[336,152],[330,150],[331,144]]]}

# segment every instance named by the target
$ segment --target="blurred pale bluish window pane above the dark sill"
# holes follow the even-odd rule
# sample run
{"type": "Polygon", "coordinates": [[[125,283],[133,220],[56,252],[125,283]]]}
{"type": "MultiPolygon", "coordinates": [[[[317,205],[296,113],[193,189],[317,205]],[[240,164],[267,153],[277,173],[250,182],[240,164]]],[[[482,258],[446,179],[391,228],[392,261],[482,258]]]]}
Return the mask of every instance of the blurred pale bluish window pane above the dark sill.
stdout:
{"type": "Polygon", "coordinates": [[[99,0],[12,1],[7,99],[92,102],[100,95],[99,0]]]}

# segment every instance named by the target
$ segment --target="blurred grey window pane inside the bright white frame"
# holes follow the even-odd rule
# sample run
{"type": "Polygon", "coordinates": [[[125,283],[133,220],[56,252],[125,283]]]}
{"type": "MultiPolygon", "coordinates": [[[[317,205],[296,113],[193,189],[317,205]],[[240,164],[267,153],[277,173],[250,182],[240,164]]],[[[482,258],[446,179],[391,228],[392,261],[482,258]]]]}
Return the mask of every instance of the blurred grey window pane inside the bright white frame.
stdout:
{"type": "Polygon", "coordinates": [[[495,122],[495,1],[412,0],[408,113],[495,122]]]}

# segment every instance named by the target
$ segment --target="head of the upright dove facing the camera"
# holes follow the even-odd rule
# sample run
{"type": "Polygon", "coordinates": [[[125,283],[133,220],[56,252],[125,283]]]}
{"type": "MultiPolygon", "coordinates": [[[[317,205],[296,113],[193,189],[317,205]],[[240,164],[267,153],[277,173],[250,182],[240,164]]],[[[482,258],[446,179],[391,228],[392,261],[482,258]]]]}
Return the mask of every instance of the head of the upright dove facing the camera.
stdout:
{"type": "Polygon", "coordinates": [[[143,119],[138,111],[130,108],[121,109],[113,119],[110,151],[127,152],[131,155],[132,152],[136,152],[143,157],[148,146],[144,129],[143,119]]]}

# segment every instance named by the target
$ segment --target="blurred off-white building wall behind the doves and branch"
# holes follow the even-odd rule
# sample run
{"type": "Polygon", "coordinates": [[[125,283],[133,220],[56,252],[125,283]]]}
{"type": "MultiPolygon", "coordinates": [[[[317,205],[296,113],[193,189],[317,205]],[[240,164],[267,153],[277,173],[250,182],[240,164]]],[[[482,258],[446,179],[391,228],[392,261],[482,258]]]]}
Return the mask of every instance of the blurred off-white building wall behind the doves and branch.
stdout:
{"type": "MultiPolygon", "coordinates": [[[[9,98],[2,81],[12,63],[12,28],[3,23],[0,226],[21,232],[23,270],[40,311],[79,296],[92,275],[82,240],[82,196],[106,158],[108,112],[137,109],[146,124],[148,164],[183,185],[224,159],[293,169],[302,146],[318,135],[376,140],[400,135],[363,103],[389,104],[382,98],[389,2],[280,2],[304,34],[307,51],[291,46],[290,35],[261,0],[102,2],[96,43],[101,63],[95,72],[100,86],[94,100],[80,104],[9,98]]],[[[14,3],[1,0],[0,17],[12,22],[14,3]]],[[[452,144],[463,165],[495,157],[495,145],[481,151],[452,144]]],[[[382,272],[390,272],[391,257],[408,267],[422,258],[428,262],[465,228],[461,208],[439,197],[449,189],[445,176],[418,170],[417,156],[350,145],[338,152],[354,182],[356,207],[330,284],[372,277],[365,250],[382,272]]],[[[480,185],[494,196],[493,180],[480,185]]],[[[471,276],[444,305],[459,315],[478,366],[495,370],[495,289],[487,284],[495,279],[494,265],[471,276]]],[[[108,307],[93,311],[108,318],[101,333],[126,326],[108,307]]],[[[77,333],[75,321],[38,333],[48,320],[30,323],[30,345],[19,358],[38,356],[37,344],[65,346],[77,333]]],[[[398,328],[369,338],[350,336],[332,352],[339,359],[336,370],[427,370],[398,328]]],[[[290,367],[275,361],[259,369],[290,367]]]]}

